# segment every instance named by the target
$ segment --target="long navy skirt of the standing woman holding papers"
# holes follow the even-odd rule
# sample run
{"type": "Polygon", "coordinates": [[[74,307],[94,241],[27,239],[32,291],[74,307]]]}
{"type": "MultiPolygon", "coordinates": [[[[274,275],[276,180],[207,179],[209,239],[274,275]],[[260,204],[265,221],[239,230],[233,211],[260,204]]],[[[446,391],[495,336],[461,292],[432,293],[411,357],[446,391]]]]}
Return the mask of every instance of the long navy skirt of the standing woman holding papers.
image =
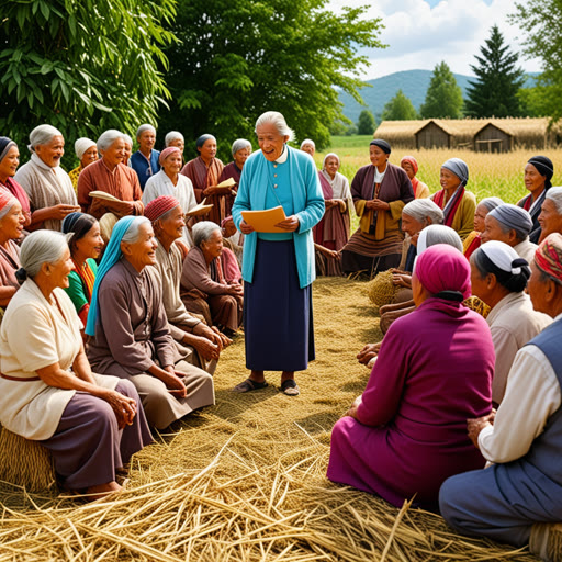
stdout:
{"type": "Polygon", "coordinates": [[[258,239],[254,281],[244,283],[246,368],[303,371],[314,360],[312,286],[299,286],[293,240],[258,239]]]}

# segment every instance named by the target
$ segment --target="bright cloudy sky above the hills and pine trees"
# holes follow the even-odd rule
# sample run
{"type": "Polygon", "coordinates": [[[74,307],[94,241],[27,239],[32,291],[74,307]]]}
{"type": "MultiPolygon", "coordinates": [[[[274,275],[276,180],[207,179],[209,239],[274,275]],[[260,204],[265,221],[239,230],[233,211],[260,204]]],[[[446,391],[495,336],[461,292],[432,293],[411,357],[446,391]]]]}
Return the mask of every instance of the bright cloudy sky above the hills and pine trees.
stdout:
{"type": "MultiPolygon", "coordinates": [[[[342,5],[360,7],[364,0],[330,2],[336,10],[342,5]]],[[[512,50],[521,52],[522,33],[507,21],[513,12],[513,0],[441,0],[434,8],[425,0],[378,0],[366,15],[383,19],[385,29],[380,40],[389,47],[362,50],[371,61],[362,77],[378,78],[418,68],[432,70],[441,60],[453,72],[472,75],[470,65],[494,23],[512,50]]],[[[526,71],[540,70],[538,60],[520,56],[519,64],[526,71]]]]}

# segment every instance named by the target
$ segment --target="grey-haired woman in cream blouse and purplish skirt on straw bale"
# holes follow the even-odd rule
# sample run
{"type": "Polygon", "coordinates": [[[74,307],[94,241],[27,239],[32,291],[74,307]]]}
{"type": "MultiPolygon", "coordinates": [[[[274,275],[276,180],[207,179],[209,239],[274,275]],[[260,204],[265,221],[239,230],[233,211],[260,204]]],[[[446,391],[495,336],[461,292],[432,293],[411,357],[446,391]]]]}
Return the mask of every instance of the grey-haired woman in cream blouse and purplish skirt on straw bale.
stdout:
{"type": "Polygon", "coordinates": [[[20,255],[25,279],[0,329],[0,423],[53,453],[65,487],[101,497],[133,453],[151,442],[135,387],[92,373],[67,296],[66,238],[38,231],[20,255]]]}

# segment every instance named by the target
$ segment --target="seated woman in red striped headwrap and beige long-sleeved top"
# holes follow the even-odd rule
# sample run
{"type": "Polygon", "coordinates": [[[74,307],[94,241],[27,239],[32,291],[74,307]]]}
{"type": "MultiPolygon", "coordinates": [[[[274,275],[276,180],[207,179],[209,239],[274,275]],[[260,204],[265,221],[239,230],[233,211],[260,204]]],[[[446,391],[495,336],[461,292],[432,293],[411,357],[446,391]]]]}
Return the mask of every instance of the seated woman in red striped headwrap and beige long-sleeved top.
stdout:
{"type": "Polygon", "coordinates": [[[180,299],[182,257],[175,244],[181,238],[186,223],[179,201],[171,195],[160,195],[145,209],[145,216],[153,223],[158,240],[156,268],[160,273],[162,301],[173,339],[192,351],[188,361],[213,374],[223,347],[232,341],[216,327],[191,315],[180,299]]]}

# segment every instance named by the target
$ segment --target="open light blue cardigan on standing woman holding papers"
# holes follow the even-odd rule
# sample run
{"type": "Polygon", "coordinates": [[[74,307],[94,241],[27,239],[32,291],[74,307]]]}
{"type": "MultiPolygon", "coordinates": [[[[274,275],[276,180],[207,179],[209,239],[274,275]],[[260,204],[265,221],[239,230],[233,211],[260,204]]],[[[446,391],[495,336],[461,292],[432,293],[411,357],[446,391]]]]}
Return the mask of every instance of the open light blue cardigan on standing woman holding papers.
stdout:
{"type": "MultiPolygon", "coordinates": [[[[290,146],[286,149],[289,155],[285,164],[289,165],[294,214],[300,223],[299,229],[293,233],[293,240],[299,284],[302,289],[316,279],[312,227],[324,216],[325,205],[314,160],[306,153],[290,146]]],[[[237,228],[243,221],[243,211],[266,210],[268,175],[268,160],[261,150],[257,150],[246,160],[241,170],[238,193],[233,206],[233,220],[237,228]]],[[[254,278],[257,240],[257,233],[248,234],[244,239],[241,276],[248,283],[251,283],[254,278]]]]}

